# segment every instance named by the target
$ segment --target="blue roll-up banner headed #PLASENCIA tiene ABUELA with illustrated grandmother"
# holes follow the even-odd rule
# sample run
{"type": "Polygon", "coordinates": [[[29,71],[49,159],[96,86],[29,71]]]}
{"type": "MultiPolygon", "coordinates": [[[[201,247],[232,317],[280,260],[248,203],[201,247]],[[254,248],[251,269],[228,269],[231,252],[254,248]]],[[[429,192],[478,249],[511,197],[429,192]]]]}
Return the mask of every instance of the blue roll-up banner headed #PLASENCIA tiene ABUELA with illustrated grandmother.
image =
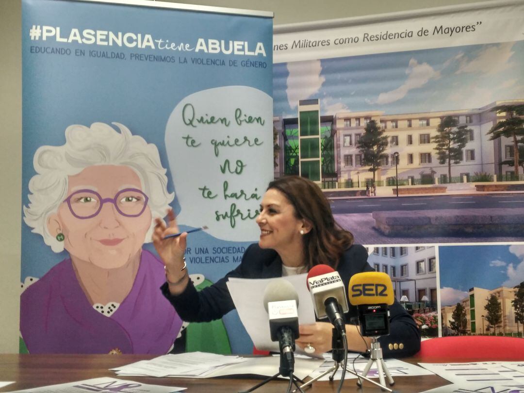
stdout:
{"type": "Polygon", "coordinates": [[[272,13],[170,7],[23,1],[23,352],[252,350],[234,313],[182,324],[151,232],[168,208],[208,227],[188,237],[197,289],[258,238],[272,13]]]}

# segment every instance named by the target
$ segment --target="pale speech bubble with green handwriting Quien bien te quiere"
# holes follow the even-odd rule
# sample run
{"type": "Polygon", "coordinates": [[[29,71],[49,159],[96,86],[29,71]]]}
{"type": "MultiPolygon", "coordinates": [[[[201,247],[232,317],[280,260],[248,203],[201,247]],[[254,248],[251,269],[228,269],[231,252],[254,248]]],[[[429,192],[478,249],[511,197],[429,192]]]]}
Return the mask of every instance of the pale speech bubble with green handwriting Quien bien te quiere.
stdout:
{"type": "Polygon", "coordinates": [[[166,126],[177,223],[212,236],[254,241],[260,201],[273,179],[272,99],[248,86],[188,95],[166,126]]]}

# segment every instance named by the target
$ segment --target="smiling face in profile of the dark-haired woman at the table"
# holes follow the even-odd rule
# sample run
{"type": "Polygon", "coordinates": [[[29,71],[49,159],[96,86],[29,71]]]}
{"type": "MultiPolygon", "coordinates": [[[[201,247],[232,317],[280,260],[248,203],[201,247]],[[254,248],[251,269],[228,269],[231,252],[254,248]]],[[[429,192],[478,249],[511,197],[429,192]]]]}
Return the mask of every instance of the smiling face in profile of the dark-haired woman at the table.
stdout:
{"type": "Polygon", "coordinates": [[[293,205],[276,189],[264,194],[256,222],[261,232],[258,241],[261,248],[272,248],[281,254],[287,248],[296,249],[298,243],[302,244],[300,230],[304,221],[297,219],[293,205]]]}

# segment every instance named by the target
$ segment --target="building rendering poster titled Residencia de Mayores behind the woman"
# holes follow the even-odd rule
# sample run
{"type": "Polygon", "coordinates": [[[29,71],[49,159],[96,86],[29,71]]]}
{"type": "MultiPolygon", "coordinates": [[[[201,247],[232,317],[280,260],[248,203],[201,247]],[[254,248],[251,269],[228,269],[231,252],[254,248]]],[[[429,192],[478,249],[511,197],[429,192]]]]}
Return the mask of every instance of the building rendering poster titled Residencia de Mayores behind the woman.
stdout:
{"type": "MultiPolygon", "coordinates": [[[[523,26],[524,3],[506,1],[275,28],[275,174],[322,184],[425,336],[439,245],[469,255],[440,266],[459,280],[484,250],[467,244],[524,242],[523,26]]],[[[464,281],[457,302],[524,281],[522,261],[511,266],[511,283],[464,281]]],[[[476,318],[451,334],[478,333],[476,318]]]]}

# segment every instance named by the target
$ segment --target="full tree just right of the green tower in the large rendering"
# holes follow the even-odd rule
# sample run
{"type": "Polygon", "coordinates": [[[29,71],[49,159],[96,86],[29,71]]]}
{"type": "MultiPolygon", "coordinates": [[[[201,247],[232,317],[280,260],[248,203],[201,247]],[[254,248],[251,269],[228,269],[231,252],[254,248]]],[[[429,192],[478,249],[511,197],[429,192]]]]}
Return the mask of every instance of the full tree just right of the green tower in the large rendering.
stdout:
{"type": "Polygon", "coordinates": [[[373,184],[375,184],[375,173],[380,169],[381,161],[388,155],[384,153],[388,147],[388,137],[376,121],[371,120],[364,128],[364,134],[357,143],[357,148],[363,156],[363,165],[370,165],[368,169],[373,172],[373,184]]]}

